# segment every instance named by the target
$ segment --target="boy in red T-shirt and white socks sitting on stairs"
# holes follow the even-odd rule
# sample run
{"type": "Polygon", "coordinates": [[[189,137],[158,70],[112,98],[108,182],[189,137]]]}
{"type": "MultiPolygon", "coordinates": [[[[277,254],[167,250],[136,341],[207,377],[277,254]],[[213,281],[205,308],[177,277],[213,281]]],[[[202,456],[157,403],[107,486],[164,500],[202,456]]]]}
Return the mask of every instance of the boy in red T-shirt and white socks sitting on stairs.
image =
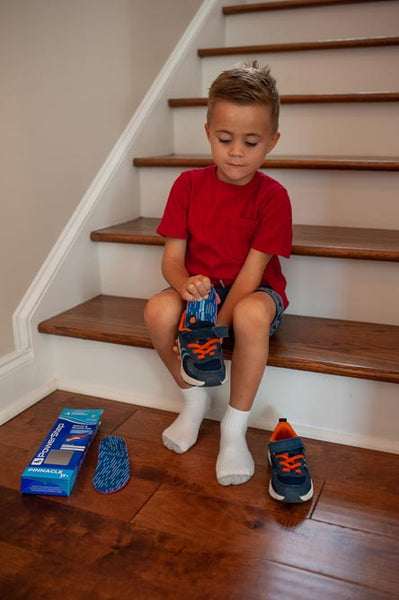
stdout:
{"type": "Polygon", "coordinates": [[[167,448],[182,453],[195,444],[210,400],[205,387],[190,386],[181,376],[174,349],[178,324],[187,301],[206,298],[212,286],[220,297],[217,325],[232,329],[235,340],[216,463],[221,485],[245,483],[254,474],[248,417],[269,335],[288,305],[277,255],[290,256],[291,205],[286,190],[259,171],[280,137],[278,115],[268,68],[255,62],[213,82],[205,131],[215,164],[182,173],[172,186],[158,228],[166,238],[162,272],[171,288],[152,297],[145,310],[154,348],[185,400],[162,436],[167,448]]]}

